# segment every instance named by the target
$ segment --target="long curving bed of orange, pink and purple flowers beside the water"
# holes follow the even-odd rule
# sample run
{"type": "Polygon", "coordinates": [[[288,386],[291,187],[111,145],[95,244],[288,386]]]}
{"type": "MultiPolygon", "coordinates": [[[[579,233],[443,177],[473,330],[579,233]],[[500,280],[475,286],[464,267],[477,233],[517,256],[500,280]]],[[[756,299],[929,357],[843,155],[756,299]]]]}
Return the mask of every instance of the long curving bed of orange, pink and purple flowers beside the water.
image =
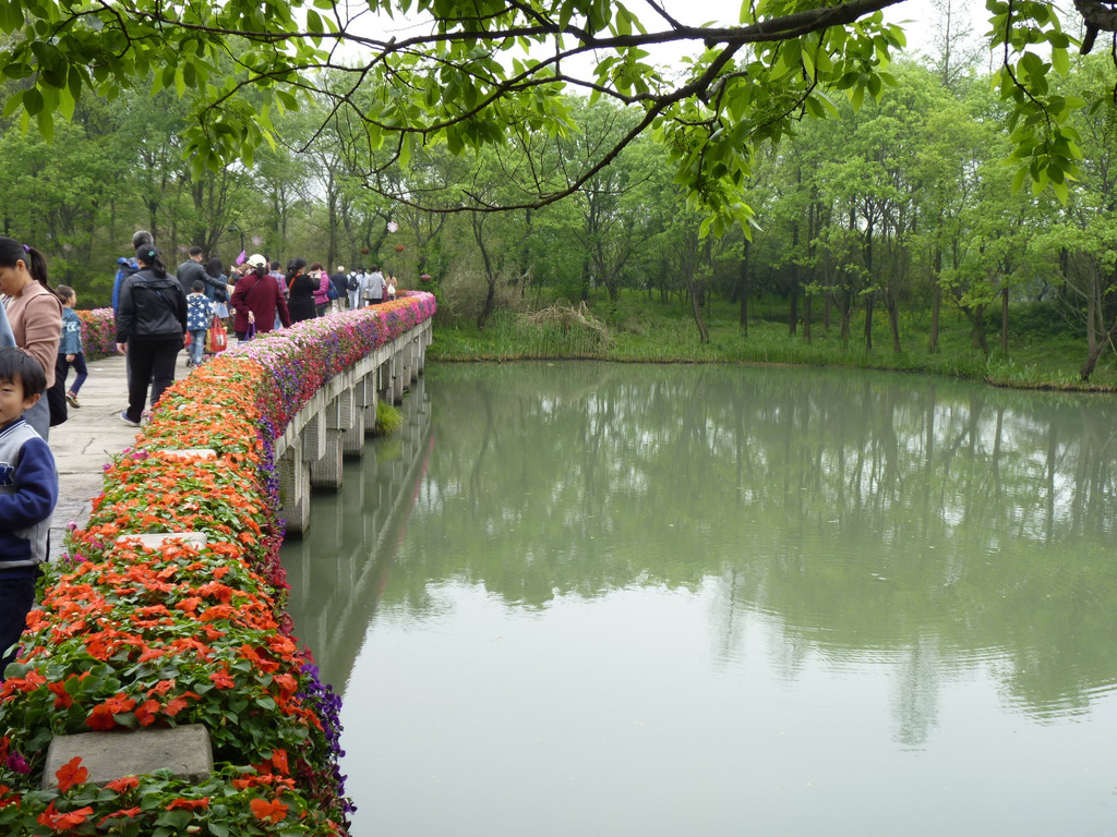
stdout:
{"type": "Polygon", "coordinates": [[[169,389],[105,472],[0,689],[0,834],[344,835],[338,701],[290,636],[271,441],[333,375],[433,314],[429,294],[265,335],[169,389]],[[166,453],[211,448],[217,458],[166,453]],[[157,549],[123,533],[201,531],[157,549]],[[55,735],[202,723],[214,771],[40,790],[55,735]]]}

